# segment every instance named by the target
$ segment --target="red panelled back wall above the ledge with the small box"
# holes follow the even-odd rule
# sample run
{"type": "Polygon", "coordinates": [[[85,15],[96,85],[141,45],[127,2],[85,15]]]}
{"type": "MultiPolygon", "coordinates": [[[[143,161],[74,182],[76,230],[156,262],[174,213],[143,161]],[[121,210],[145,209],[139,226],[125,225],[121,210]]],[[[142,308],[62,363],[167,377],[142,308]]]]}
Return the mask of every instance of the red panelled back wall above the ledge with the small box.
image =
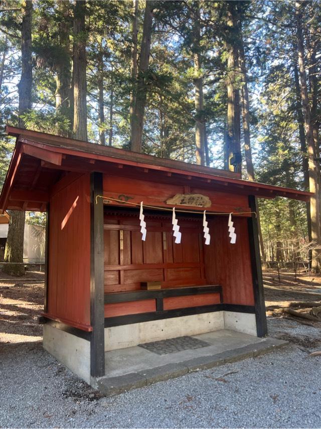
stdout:
{"type": "Polygon", "coordinates": [[[143,281],[161,281],[163,288],[206,284],[201,220],[179,222],[181,244],[170,219],[145,221],[143,242],[138,216],[105,216],[105,293],[138,290],[143,281]]]}

